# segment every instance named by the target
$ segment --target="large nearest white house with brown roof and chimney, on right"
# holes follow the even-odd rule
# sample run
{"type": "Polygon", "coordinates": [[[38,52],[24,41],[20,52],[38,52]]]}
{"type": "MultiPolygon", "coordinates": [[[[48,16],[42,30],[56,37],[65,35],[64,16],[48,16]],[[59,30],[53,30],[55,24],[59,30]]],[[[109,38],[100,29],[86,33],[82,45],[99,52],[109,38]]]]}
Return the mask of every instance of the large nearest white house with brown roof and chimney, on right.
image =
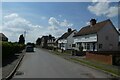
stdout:
{"type": "Polygon", "coordinates": [[[117,51],[119,33],[110,19],[98,22],[90,20],[90,25],[77,32],[74,37],[74,49],[83,51],[117,51]]]}

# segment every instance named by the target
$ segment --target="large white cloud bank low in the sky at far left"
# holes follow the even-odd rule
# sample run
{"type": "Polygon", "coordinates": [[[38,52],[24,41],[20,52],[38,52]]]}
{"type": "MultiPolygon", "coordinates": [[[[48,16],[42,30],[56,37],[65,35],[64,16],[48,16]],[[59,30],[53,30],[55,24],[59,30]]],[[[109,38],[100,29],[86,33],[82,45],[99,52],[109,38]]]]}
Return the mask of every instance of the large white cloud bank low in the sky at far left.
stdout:
{"type": "Polygon", "coordinates": [[[10,41],[18,41],[20,34],[27,31],[27,40],[34,39],[40,34],[43,26],[33,25],[30,21],[22,18],[17,13],[12,13],[3,17],[2,32],[5,33],[10,41]],[[32,37],[28,37],[31,35],[32,37]]]}

